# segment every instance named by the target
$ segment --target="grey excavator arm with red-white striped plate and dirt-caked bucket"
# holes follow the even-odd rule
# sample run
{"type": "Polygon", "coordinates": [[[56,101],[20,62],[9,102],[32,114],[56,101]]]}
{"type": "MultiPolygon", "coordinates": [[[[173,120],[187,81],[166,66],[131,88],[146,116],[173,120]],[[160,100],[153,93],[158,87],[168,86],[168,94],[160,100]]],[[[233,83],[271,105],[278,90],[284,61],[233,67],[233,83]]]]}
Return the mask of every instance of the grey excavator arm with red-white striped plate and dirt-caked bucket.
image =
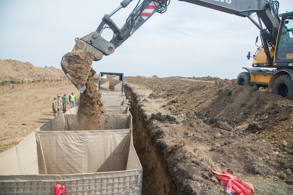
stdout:
{"type": "MultiPolygon", "coordinates": [[[[112,54],[117,47],[132,36],[154,13],[164,13],[171,0],[139,0],[133,11],[126,18],[125,24],[118,28],[111,16],[121,8],[128,6],[133,0],[123,0],[112,13],[104,15],[102,22],[95,32],[75,39],[72,52],[65,54],[61,60],[61,67],[67,77],[81,93],[86,90],[85,84],[91,70],[91,63],[99,61],[103,55],[112,54]],[[114,36],[110,41],[101,35],[105,28],[110,28],[114,36]]],[[[275,46],[280,18],[278,16],[278,1],[272,0],[178,0],[204,6],[249,18],[261,34],[263,45],[270,59],[268,44],[275,46]],[[251,15],[257,14],[258,22],[251,15]],[[263,25],[266,28],[263,28],[263,25]]]]}

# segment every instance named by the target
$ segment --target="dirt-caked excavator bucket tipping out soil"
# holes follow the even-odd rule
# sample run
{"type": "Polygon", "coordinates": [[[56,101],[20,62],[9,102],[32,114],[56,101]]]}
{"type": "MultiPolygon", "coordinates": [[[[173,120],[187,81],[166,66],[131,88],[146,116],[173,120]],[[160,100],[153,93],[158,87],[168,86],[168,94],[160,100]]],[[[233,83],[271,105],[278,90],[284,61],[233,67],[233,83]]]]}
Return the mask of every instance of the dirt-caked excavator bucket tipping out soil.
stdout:
{"type": "Polygon", "coordinates": [[[83,93],[95,55],[91,51],[71,51],[61,60],[61,67],[74,86],[83,93]]]}

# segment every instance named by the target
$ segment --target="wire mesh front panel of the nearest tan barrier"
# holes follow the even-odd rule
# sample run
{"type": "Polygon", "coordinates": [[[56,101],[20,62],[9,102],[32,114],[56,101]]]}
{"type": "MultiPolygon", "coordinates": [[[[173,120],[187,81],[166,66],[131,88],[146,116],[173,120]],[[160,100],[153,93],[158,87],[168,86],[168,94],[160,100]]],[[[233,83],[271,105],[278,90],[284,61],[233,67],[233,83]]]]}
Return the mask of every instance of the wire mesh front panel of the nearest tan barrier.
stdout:
{"type": "Polygon", "coordinates": [[[67,182],[0,182],[0,194],[51,195],[54,185],[65,186],[64,195],[141,195],[142,169],[138,175],[80,179],[67,182]]]}

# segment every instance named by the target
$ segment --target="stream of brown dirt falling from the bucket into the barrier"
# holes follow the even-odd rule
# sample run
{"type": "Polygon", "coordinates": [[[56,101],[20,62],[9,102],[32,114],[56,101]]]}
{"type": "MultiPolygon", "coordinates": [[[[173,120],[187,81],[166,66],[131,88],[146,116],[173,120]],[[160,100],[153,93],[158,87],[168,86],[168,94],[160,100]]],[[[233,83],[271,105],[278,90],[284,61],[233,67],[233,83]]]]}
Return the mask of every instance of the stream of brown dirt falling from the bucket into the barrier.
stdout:
{"type": "Polygon", "coordinates": [[[97,85],[92,77],[96,72],[91,69],[86,81],[86,90],[80,94],[79,109],[77,111],[80,128],[84,130],[100,130],[100,116],[103,114],[103,100],[97,91],[97,85]]]}

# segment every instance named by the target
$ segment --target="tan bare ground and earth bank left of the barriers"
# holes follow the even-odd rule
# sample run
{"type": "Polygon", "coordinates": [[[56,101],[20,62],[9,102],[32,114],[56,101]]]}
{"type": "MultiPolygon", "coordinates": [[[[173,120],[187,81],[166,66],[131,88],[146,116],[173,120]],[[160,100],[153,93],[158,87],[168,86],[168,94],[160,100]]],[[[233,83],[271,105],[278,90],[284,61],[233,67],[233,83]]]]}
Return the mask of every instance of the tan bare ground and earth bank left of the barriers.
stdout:
{"type": "Polygon", "coordinates": [[[16,60],[0,60],[0,68],[0,152],[54,118],[52,101],[58,93],[75,92],[79,105],[77,89],[60,69],[37,68],[16,60]]]}

